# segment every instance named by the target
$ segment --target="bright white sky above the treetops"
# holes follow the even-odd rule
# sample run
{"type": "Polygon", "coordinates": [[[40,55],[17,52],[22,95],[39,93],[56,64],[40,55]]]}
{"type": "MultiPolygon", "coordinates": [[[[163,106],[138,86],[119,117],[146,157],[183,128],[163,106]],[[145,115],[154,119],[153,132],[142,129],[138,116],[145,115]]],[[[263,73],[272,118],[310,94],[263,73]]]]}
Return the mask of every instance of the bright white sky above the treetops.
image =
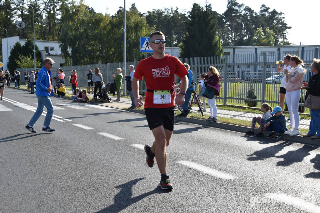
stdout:
{"type": "MultiPolygon", "coordinates": [[[[164,9],[165,7],[175,7],[182,10],[190,11],[192,4],[197,3],[201,6],[205,5],[205,2],[212,5],[212,9],[218,13],[226,11],[227,0],[159,0],[159,1],[142,1],[142,0],[126,0],[126,9],[129,10],[132,3],[136,4],[137,9],[141,12],[152,11],[153,9],[164,9]]],[[[297,1],[244,1],[237,0],[239,4],[243,3],[246,6],[251,7],[252,10],[259,12],[260,6],[265,4],[270,7],[270,10],[276,9],[284,12],[285,22],[288,26],[292,27],[287,30],[288,41],[295,43],[296,45],[318,45],[320,44],[319,35],[319,0],[304,0],[302,2],[297,1]]],[[[89,5],[95,11],[103,14],[108,13],[114,15],[119,9],[119,6],[124,7],[123,1],[114,0],[84,0],[84,4],[89,5]]]]}

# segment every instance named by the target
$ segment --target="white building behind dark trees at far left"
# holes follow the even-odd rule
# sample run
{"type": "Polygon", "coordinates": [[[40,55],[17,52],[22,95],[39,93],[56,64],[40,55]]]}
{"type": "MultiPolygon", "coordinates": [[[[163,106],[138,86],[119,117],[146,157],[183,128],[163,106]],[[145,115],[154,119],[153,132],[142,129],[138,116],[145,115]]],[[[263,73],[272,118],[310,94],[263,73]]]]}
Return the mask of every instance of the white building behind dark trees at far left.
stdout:
{"type": "MultiPolygon", "coordinates": [[[[3,70],[8,70],[7,63],[8,63],[9,57],[7,55],[7,52],[10,56],[10,51],[13,48],[15,43],[19,42],[21,46],[23,46],[26,43],[26,41],[27,39],[20,39],[19,36],[8,37],[8,46],[7,46],[7,38],[2,39],[2,58],[3,58],[2,63],[4,63],[3,70]]],[[[55,62],[53,65],[54,67],[60,67],[64,65],[65,60],[61,57],[61,50],[59,47],[59,44],[61,44],[61,42],[36,40],[35,43],[41,52],[42,60],[45,57],[50,57],[55,62]]],[[[32,58],[33,58],[33,54],[32,54],[32,58]]]]}

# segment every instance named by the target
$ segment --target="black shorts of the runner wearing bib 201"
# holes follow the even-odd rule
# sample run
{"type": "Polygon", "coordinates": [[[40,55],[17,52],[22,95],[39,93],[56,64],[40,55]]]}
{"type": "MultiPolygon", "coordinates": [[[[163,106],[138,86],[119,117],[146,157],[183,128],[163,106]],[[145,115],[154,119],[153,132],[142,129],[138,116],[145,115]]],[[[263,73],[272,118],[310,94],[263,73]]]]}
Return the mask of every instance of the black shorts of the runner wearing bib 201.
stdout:
{"type": "Polygon", "coordinates": [[[174,107],[169,108],[145,108],[144,109],[150,130],[163,126],[173,131],[174,107]]]}

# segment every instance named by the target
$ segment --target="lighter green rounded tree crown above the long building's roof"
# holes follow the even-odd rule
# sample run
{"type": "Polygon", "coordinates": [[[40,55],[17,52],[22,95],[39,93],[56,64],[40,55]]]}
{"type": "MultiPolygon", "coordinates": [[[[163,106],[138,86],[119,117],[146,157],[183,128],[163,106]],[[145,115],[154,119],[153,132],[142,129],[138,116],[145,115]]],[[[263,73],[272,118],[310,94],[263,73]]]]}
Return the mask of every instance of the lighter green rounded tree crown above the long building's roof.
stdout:
{"type": "Polygon", "coordinates": [[[274,33],[268,28],[262,30],[262,27],[258,28],[253,35],[251,45],[255,46],[272,46],[275,43],[274,33]]]}

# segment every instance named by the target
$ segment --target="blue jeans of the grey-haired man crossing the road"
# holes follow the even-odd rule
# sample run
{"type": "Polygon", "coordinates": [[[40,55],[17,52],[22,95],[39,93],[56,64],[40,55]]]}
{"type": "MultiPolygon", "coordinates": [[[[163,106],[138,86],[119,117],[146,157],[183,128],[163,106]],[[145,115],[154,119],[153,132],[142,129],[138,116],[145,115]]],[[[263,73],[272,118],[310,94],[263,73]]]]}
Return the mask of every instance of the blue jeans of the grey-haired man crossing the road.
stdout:
{"type": "Polygon", "coordinates": [[[37,122],[37,120],[40,118],[44,107],[47,108],[47,115],[45,116],[43,126],[50,126],[50,121],[53,114],[53,106],[52,102],[50,100],[50,97],[48,96],[40,96],[37,95],[38,98],[38,108],[35,112],[35,114],[32,116],[31,120],[29,121],[28,125],[33,126],[37,122]]]}

